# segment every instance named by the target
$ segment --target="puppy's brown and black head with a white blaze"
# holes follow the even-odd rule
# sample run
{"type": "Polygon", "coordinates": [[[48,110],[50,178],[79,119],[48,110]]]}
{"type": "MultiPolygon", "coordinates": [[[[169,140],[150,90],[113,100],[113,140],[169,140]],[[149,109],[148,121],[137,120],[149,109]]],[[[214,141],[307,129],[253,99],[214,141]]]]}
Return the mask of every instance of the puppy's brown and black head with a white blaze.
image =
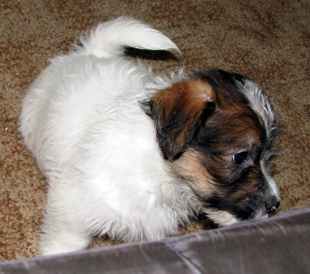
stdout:
{"type": "Polygon", "coordinates": [[[219,225],[265,217],[280,204],[269,173],[277,127],[253,81],[212,70],[159,91],[150,101],[159,145],[219,225]]]}

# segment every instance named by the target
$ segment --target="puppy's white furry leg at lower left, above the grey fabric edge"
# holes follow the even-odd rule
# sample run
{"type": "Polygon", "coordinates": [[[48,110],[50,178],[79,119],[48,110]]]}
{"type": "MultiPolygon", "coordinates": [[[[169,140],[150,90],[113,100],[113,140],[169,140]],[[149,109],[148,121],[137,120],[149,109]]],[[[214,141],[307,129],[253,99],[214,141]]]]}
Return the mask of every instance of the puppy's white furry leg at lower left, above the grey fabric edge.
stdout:
{"type": "Polygon", "coordinates": [[[92,235],[85,221],[87,214],[83,210],[82,191],[73,189],[68,176],[65,182],[57,177],[48,179],[50,189],[38,241],[38,254],[58,254],[87,248],[92,235]]]}

